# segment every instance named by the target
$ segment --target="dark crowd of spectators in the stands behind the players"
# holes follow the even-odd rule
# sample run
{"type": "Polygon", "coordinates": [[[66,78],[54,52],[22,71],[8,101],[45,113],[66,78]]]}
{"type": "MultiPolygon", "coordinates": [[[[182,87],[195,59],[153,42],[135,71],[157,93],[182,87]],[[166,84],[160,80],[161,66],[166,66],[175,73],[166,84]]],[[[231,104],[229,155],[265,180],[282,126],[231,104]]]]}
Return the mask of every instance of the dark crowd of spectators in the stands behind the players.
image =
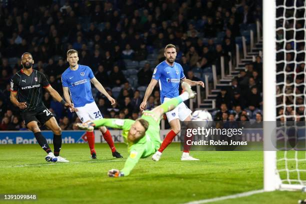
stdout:
{"type": "MultiPolygon", "coordinates": [[[[166,44],[176,45],[176,61],[186,77],[201,79],[193,70],[209,69],[219,63],[220,56],[229,57],[228,52],[233,56],[240,28],[262,20],[261,3],[261,0],[1,1],[0,130],[26,129],[18,108],[9,101],[9,80],[21,68],[23,52],[32,54],[33,68],[43,72],[62,95],[60,76],[68,67],[66,51],[78,50],[78,63],[88,65],[117,101],[110,105],[106,97],[92,88],[103,116],[136,119],[143,96],[143,89],[138,87],[150,82],[153,68],[164,60],[166,44]],[[130,61],[136,61],[138,66],[129,69],[130,61]]],[[[231,89],[221,90],[217,96],[215,119],[237,119],[243,115],[255,119],[256,113],[260,113],[261,58],[245,68],[232,80],[231,89]],[[225,112],[227,116],[223,115],[225,112]]],[[[55,113],[63,130],[72,129],[72,123],[79,121],[75,113],[70,113],[47,92],[43,102],[55,113]]],[[[146,108],[158,104],[159,91],[155,87],[146,108]]]]}

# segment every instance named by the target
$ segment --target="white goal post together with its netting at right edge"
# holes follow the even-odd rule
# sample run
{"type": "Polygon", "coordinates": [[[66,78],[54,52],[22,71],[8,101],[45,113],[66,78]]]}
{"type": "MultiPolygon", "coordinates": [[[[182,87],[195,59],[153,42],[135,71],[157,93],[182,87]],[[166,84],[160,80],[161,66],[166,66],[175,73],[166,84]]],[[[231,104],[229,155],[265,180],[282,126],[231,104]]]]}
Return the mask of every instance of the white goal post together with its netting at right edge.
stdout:
{"type": "Polygon", "coordinates": [[[265,145],[271,135],[277,139],[275,151],[264,151],[264,189],[302,189],[306,187],[306,4],[305,0],[264,1],[263,116],[264,121],[276,118],[274,132],[264,127],[265,145]]]}

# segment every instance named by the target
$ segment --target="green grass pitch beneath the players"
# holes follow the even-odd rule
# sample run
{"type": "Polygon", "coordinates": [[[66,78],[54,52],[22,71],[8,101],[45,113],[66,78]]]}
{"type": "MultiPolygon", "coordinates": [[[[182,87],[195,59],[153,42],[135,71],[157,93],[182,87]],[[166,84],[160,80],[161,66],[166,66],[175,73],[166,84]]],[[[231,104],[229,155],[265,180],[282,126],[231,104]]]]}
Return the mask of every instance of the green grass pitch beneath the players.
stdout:
{"type": "MultiPolygon", "coordinates": [[[[126,145],[116,147],[126,157],[126,145]]],[[[262,189],[262,151],[193,151],[200,161],[180,161],[179,149],[172,143],[160,161],[141,159],[129,176],[109,178],[107,170],[121,169],[124,160],[112,158],[107,144],[96,144],[96,160],[89,159],[87,144],[63,144],[61,155],[70,162],[52,164],[37,144],[0,145],[0,194],[36,194],[34,203],[52,204],[183,203],[262,189]]],[[[302,198],[306,193],[274,191],[215,203],[297,203],[302,198]]]]}

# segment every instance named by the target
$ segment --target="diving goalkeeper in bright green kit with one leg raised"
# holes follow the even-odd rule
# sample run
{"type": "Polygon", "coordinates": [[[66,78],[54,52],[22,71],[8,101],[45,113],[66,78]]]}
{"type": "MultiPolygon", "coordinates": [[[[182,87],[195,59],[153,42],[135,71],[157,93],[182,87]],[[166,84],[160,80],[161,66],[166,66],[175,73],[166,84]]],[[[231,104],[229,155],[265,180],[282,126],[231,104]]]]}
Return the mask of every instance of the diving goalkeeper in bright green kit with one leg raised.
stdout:
{"type": "Polygon", "coordinates": [[[181,84],[184,92],[177,97],[165,101],[150,111],[143,111],[142,116],[132,119],[97,119],[87,123],[77,123],[80,129],[93,131],[94,127],[107,126],[122,129],[124,142],[128,145],[129,156],[121,170],[111,169],[108,176],[126,176],[138,162],[155,153],[160,146],[159,122],[163,113],[174,109],[179,103],[194,97],[194,92],[188,83],[181,84]]]}

